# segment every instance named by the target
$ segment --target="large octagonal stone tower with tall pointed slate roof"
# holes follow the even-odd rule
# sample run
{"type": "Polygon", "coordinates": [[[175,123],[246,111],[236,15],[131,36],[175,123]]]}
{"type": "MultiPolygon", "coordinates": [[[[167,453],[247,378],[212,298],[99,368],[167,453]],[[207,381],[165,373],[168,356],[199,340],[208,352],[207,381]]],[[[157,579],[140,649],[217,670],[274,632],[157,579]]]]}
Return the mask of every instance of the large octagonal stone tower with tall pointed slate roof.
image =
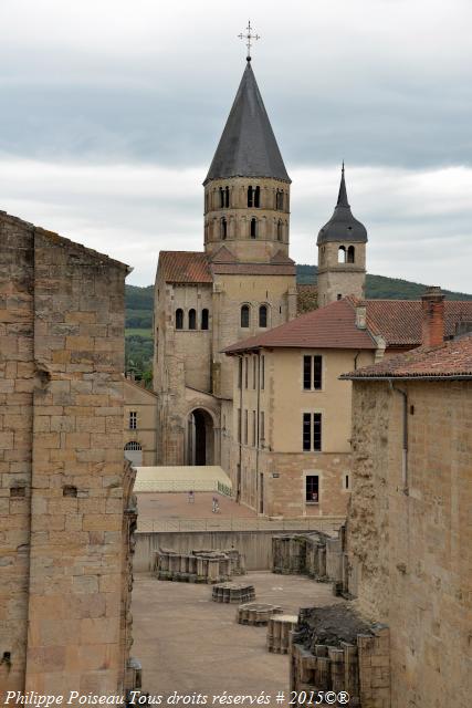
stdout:
{"type": "Polygon", "coordinates": [[[251,58],[204,186],[204,250],[222,246],[238,262],[289,256],[290,185],[251,58]]]}

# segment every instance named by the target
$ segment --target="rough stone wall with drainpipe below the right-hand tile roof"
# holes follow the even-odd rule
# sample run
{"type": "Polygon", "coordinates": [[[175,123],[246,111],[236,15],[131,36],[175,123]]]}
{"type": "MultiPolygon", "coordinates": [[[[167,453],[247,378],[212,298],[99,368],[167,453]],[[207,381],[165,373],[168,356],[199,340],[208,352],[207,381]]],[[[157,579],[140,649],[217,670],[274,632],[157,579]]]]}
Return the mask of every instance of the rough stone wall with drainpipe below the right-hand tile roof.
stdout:
{"type": "Polygon", "coordinates": [[[470,382],[354,384],[349,590],[390,627],[392,708],[465,706],[470,686],[470,382]]]}

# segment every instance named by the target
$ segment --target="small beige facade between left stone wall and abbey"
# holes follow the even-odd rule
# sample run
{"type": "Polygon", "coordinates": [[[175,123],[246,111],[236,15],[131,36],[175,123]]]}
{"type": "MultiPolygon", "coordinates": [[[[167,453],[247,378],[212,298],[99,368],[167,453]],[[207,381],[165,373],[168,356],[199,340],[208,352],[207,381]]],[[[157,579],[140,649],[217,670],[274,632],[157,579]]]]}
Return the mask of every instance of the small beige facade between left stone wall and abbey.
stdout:
{"type": "Polygon", "coordinates": [[[137,467],[157,460],[157,396],[129,378],[124,381],[123,447],[137,467]]]}

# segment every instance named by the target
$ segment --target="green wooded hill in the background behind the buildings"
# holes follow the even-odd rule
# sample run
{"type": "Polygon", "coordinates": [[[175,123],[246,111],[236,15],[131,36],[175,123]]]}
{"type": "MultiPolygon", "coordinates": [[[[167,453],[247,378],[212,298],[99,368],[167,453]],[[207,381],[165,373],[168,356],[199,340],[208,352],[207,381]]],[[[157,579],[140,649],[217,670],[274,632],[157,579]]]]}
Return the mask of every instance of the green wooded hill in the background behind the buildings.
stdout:
{"type": "MultiPolygon", "coordinates": [[[[316,266],[296,267],[296,281],[316,283],[316,266]]],[[[373,300],[419,300],[426,285],[399,278],[367,275],[366,295],[373,300]]],[[[462,292],[443,291],[447,300],[472,300],[462,292]]],[[[137,376],[151,367],[153,360],[154,285],[126,285],[126,368],[133,367],[137,376]]]]}

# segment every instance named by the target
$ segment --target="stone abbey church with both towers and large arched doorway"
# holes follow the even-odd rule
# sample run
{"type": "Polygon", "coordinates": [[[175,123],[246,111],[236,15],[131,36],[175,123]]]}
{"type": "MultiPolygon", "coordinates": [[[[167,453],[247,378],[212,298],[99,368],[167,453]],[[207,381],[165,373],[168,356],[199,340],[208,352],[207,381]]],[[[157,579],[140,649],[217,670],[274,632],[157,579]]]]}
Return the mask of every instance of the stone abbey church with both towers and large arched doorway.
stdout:
{"type": "MultiPolygon", "coordinates": [[[[233,363],[223,350],[297,314],[291,179],[250,61],[203,186],[204,250],[161,251],[157,268],[159,465],[230,459],[233,363]]],[[[321,302],[364,295],[366,242],[343,169],[335,212],[318,237],[321,302]]]]}

